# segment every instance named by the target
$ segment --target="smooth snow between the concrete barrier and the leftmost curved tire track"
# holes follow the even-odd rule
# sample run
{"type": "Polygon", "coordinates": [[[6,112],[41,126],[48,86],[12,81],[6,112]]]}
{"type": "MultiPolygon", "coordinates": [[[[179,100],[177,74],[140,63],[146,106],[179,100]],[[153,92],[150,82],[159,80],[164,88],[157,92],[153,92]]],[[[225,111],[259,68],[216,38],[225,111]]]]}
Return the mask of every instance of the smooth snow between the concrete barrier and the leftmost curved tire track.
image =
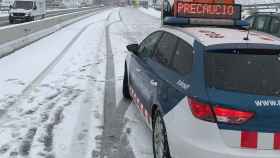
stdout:
{"type": "Polygon", "coordinates": [[[5,74],[0,76],[0,109],[9,107],[11,104],[6,103],[5,100],[20,95],[28,84],[61,53],[82,28],[80,24],[81,22],[78,22],[66,27],[0,59],[0,72],[5,74]]]}

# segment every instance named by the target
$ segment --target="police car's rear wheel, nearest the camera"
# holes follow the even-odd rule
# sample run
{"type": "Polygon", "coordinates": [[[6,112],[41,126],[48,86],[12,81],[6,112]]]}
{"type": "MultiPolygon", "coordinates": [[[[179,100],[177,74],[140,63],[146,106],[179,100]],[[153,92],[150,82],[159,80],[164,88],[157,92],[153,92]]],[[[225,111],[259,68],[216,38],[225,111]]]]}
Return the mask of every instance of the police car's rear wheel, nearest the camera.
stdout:
{"type": "Polygon", "coordinates": [[[166,128],[159,110],[153,116],[153,153],[154,158],[171,158],[166,128]]]}

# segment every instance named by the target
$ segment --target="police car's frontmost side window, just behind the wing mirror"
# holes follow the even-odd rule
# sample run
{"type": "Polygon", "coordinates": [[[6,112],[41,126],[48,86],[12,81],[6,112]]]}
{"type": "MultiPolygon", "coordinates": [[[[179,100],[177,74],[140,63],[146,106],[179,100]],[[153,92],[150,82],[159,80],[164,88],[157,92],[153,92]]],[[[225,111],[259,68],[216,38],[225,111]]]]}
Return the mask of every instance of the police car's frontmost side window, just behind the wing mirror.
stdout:
{"type": "Polygon", "coordinates": [[[139,48],[139,56],[141,57],[149,57],[153,54],[155,46],[159,38],[161,37],[162,32],[154,32],[150,36],[148,36],[144,41],[141,43],[139,48]]]}

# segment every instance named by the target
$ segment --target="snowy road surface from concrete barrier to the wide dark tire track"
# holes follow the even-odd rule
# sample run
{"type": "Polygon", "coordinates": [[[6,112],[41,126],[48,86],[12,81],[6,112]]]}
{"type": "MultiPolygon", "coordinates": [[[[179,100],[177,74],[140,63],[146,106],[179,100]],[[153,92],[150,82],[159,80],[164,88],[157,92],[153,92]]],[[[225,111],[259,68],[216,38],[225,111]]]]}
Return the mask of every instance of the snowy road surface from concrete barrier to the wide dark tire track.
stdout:
{"type": "Polygon", "coordinates": [[[109,11],[0,59],[0,157],[91,158],[102,134],[109,11]],[[92,36],[94,35],[94,36],[92,36]]]}

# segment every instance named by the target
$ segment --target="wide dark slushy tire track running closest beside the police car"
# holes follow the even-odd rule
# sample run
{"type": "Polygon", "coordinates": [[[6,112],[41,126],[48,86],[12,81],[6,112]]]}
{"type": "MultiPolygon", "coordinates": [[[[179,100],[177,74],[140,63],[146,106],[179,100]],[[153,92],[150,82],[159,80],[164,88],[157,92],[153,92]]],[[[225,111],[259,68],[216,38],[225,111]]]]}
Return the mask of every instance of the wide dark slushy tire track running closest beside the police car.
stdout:
{"type": "MultiPolygon", "coordinates": [[[[101,144],[101,158],[134,158],[129,147],[126,134],[123,133],[125,125],[124,114],[128,109],[128,101],[122,99],[116,103],[116,76],[115,62],[110,36],[110,27],[122,21],[120,10],[119,20],[113,21],[106,26],[106,84],[104,93],[104,131],[101,144]]],[[[110,16],[111,17],[111,16],[110,16]]],[[[107,19],[110,20],[110,17],[107,19]]],[[[96,157],[92,157],[96,158],[96,157]]]]}

